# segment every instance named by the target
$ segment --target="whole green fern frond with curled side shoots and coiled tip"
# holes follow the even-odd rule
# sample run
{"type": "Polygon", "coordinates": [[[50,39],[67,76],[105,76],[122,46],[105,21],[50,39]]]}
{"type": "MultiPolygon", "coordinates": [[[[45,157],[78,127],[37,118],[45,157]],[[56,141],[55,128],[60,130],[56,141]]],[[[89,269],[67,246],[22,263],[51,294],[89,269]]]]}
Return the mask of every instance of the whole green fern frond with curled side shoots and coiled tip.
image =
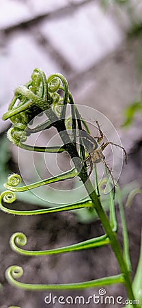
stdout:
{"type": "Polygon", "coordinates": [[[130,279],[130,255],[128,247],[128,231],[126,228],[126,220],[124,216],[124,207],[122,203],[122,196],[119,187],[116,188],[117,202],[119,203],[120,216],[122,218],[123,227],[123,251],[119,246],[117,240],[117,219],[115,216],[115,199],[113,198],[112,185],[109,183],[109,218],[106,216],[104,208],[102,206],[103,190],[102,184],[108,182],[108,177],[98,183],[98,177],[96,172],[96,166],[94,166],[94,179],[95,183],[91,183],[89,179],[87,165],[86,165],[86,141],[83,140],[83,129],[89,133],[87,124],[81,118],[79,110],[74,105],[72,95],[68,89],[68,83],[66,79],[60,74],[54,74],[46,79],[44,72],[40,69],[33,70],[31,80],[25,84],[25,86],[19,86],[15,90],[14,99],[10,104],[8,112],[3,115],[3,120],[10,120],[13,123],[12,128],[8,131],[8,138],[16,146],[27,149],[29,151],[40,151],[43,153],[62,153],[67,151],[70,155],[74,168],[66,172],[61,173],[55,177],[44,179],[33,184],[17,187],[20,183],[20,175],[12,174],[8,177],[8,183],[5,183],[5,188],[8,190],[1,193],[1,205],[2,211],[14,215],[39,215],[49,214],[60,211],[70,211],[72,209],[87,208],[88,211],[96,211],[98,218],[104,228],[104,235],[98,238],[92,238],[85,242],[73,244],[70,246],[56,248],[47,251],[27,251],[20,246],[25,246],[27,238],[23,233],[14,233],[10,239],[10,245],[14,251],[21,255],[52,255],[58,253],[67,253],[69,251],[80,251],[83,249],[95,248],[98,246],[104,246],[109,244],[115,253],[115,257],[119,264],[120,273],[115,276],[103,277],[101,279],[95,279],[93,281],[86,281],[82,283],[69,283],[58,285],[34,285],[21,283],[16,281],[23,275],[23,268],[19,266],[11,266],[6,270],[6,278],[8,281],[16,286],[25,290],[73,290],[81,289],[85,287],[96,287],[101,285],[112,285],[114,283],[124,283],[128,298],[131,300],[130,307],[141,307],[141,261],[140,256],[139,266],[137,274],[134,278],[134,284],[132,285],[130,279]],[[70,106],[71,116],[67,118],[66,109],[70,106]],[[33,122],[35,116],[43,113],[46,115],[47,120],[44,123],[37,125],[33,129],[29,127],[29,122],[33,122]],[[63,142],[61,146],[30,146],[24,142],[28,136],[32,133],[42,131],[55,127],[59,136],[63,142]],[[70,136],[71,135],[71,136],[70,136]],[[77,144],[77,138],[79,136],[79,145],[77,144]],[[37,209],[29,211],[19,211],[15,209],[8,209],[3,205],[5,203],[12,203],[16,200],[15,192],[25,192],[27,190],[33,190],[34,188],[46,185],[49,183],[55,183],[58,181],[65,181],[66,179],[74,178],[78,176],[88,197],[83,201],[73,204],[59,205],[58,207],[51,207],[47,209],[37,209]],[[18,245],[18,246],[17,246],[18,245]],[[140,270],[139,270],[140,268],[140,270]],[[136,296],[137,300],[134,298],[136,296]],[[139,301],[139,305],[138,305],[139,301]]]}

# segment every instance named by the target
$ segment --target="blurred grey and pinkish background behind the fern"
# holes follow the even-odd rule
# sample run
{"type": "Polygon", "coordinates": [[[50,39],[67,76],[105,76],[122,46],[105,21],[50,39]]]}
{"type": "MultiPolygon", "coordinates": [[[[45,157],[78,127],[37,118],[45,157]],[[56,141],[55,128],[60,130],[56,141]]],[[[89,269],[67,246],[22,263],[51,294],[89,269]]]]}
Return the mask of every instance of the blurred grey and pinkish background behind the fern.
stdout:
{"type": "MultiPolygon", "coordinates": [[[[0,115],[8,110],[14,89],[29,81],[35,67],[42,68],[47,77],[51,73],[63,74],[68,79],[75,103],[102,112],[117,129],[129,156],[128,166],[124,166],[119,179],[126,198],[132,188],[141,187],[141,47],[141,0],[1,0],[0,115]]],[[[8,127],[10,121],[0,120],[1,191],[8,173],[19,172],[18,151],[5,137],[8,127]]],[[[50,137],[47,132],[43,142],[50,137]]],[[[20,159],[23,172],[28,155],[20,159]]],[[[30,166],[24,176],[31,181],[30,166]]],[[[29,209],[28,198],[21,197],[17,206],[29,209]]],[[[35,204],[35,199],[30,203],[35,204]]],[[[137,196],[132,207],[126,209],[133,274],[139,256],[141,211],[141,196],[137,196]]],[[[10,305],[47,306],[44,303],[47,292],[24,292],[8,285],[4,272],[12,264],[23,264],[23,281],[29,283],[85,281],[118,271],[109,247],[42,258],[21,257],[10,249],[10,235],[16,231],[26,233],[29,249],[39,250],[93,238],[102,233],[98,221],[83,217],[78,220],[72,213],[36,218],[1,213],[0,222],[0,282],[3,284],[0,301],[3,308],[10,305]]],[[[93,293],[94,290],[61,292],[72,296],[91,296],[93,293]]],[[[55,292],[55,295],[61,294],[55,292]]],[[[117,286],[108,287],[107,294],[126,296],[124,288],[117,286]]],[[[56,303],[50,307],[61,305],[56,303]]]]}

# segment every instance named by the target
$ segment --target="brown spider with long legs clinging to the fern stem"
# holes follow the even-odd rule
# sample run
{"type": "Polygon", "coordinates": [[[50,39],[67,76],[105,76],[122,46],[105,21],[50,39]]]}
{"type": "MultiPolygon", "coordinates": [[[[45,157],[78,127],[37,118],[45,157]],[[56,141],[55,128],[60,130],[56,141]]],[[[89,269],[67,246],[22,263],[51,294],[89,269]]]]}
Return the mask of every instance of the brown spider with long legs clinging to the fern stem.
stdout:
{"type": "Polygon", "coordinates": [[[105,162],[105,156],[103,154],[103,151],[106,148],[106,146],[108,146],[109,144],[112,144],[114,146],[118,146],[120,149],[122,149],[124,151],[126,164],[127,164],[127,153],[126,153],[126,150],[124,149],[123,146],[120,146],[119,144],[116,144],[114,142],[109,141],[109,142],[102,142],[102,144],[100,144],[100,142],[104,138],[104,134],[102,133],[102,131],[100,129],[100,125],[99,125],[98,121],[96,121],[96,125],[97,125],[98,131],[100,133],[99,137],[92,137],[85,130],[81,130],[79,132],[82,139],[83,139],[83,144],[85,145],[85,148],[87,149],[87,151],[89,153],[89,155],[87,156],[87,158],[85,158],[83,160],[83,162],[86,162],[88,159],[90,159],[90,162],[89,162],[90,170],[89,170],[88,177],[91,175],[91,172],[93,171],[94,164],[98,164],[99,162],[103,162],[103,164],[106,167],[106,170],[108,170],[109,175],[110,175],[112,182],[113,182],[113,198],[114,198],[114,196],[115,196],[115,181],[114,181],[113,175],[111,173],[111,170],[109,169],[109,167],[107,166],[107,164],[105,162]]]}

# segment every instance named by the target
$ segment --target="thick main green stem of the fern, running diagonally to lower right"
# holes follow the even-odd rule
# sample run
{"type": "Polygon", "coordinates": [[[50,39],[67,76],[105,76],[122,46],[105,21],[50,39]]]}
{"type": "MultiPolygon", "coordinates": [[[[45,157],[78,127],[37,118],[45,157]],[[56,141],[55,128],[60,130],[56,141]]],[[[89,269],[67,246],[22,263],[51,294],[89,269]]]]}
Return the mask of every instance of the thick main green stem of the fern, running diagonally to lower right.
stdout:
{"type": "MultiPolygon", "coordinates": [[[[51,110],[48,110],[48,118],[51,120],[51,117],[53,118],[53,114],[50,113],[51,110]]],[[[115,232],[111,228],[111,224],[109,222],[109,219],[106,216],[106,213],[100,203],[100,199],[98,198],[96,191],[94,190],[93,185],[91,184],[91,181],[88,179],[87,170],[84,166],[82,166],[82,169],[80,171],[80,164],[76,157],[79,157],[78,152],[76,151],[76,146],[72,144],[69,140],[68,133],[66,132],[66,127],[64,124],[64,121],[61,122],[58,121],[54,125],[57,128],[57,131],[59,132],[59,135],[61,136],[61,139],[63,140],[63,143],[66,146],[66,151],[70,154],[70,157],[72,158],[74,165],[76,167],[76,170],[79,172],[79,177],[83,181],[85,185],[85,189],[87,190],[87,193],[89,194],[89,197],[91,198],[92,203],[94,204],[94,209],[96,209],[96,212],[98,214],[98,217],[100,218],[100,221],[102,222],[102,226],[104,228],[104,231],[106,235],[109,237],[111,248],[113,249],[113,252],[115,253],[115,257],[117,258],[119,268],[121,272],[124,274],[124,284],[126,286],[126,290],[128,292],[128,298],[133,300],[134,302],[134,293],[132,291],[132,283],[130,281],[130,273],[128,271],[126,262],[124,260],[122,250],[119,246],[119,242],[117,240],[115,232]],[[63,133],[61,133],[63,131],[63,133]],[[67,142],[68,140],[68,142],[67,142]]],[[[134,308],[138,308],[139,306],[133,304],[134,308]]]]}

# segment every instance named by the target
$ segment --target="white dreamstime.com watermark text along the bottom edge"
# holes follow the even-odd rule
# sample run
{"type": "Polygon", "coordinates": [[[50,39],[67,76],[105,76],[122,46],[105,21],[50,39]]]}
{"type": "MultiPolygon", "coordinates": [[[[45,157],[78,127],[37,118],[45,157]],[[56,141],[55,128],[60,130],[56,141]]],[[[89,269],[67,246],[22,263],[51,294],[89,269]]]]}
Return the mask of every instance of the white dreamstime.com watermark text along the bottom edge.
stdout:
{"type": "Polygon", "coordinates": [[[59,303],[60,305],[139,305],[139,300],[124,300],[123,296],[108,296],[106,295],[106,290],[101,288],[98,290],[98,295],[93,294],[92,296],[55,296],[52,293],[49,293],[48,296],[45,296],[44,303],[46,305],[59,303]]]}

